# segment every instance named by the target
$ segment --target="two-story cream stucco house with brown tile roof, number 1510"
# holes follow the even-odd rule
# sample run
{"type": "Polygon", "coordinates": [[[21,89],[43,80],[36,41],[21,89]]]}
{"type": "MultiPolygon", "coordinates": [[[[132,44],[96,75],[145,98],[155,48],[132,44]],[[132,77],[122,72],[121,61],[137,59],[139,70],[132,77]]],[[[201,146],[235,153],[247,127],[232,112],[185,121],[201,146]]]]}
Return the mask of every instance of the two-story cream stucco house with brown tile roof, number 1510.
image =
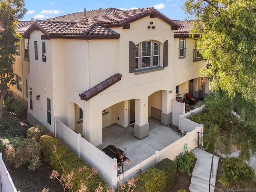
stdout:
{"type": "Polygon", "coordinates": [[[171,124],[177,95],[202,98],[208,90],[200,76],[205,62],[189,30],[188,22],[153,7],[84,9],[34,21],[23,34],[24,59],[14,66],[22,91],[26,82],[19,95],[26,96],[28,121],[53,132],[57,116],[95,146],[111,124],[134,124],[140,139],[148,136],[149,117],[171,124]]]}

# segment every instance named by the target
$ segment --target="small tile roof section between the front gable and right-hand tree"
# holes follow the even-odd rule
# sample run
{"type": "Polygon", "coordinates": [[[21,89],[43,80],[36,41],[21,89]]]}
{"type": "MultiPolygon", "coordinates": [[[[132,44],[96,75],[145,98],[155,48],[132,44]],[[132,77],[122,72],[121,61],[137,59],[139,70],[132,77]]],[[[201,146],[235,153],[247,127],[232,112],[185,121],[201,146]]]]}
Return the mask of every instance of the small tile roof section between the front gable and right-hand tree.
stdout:
{"type": "MultiPolygon", "coordinates": [[[[192,21],[180,21],[180,20],[174,20],[179,25],[179,28],[177,30],[174,30],[174,37],[188,37],[190,35],[190,30],[192,30],[192,21]]],[[[196,34],[198,36],[198,34],[196,34]]]]}

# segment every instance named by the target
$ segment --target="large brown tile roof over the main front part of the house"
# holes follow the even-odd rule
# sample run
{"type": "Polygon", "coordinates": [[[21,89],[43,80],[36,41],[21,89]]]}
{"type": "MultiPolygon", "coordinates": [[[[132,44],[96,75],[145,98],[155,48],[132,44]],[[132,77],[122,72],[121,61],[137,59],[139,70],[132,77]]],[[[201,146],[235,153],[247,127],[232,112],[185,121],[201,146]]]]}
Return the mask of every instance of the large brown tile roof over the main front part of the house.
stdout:
{"type": "Polygon", "coordinates": [[[178,28],[178,25],[174,21],[158,12],[154,7],[126,11],[116,8],[106,8],[77,12],[43,21],[36,20],[33,26],[26,31],[26,34],[37,28],[48,38],[64,38],[65,36],[69,36],[70,38],[100,38],[100,36],[119,38],[120,34],[110,30],[108,27],[121,27],[149,15],[158,16],[165,20],[173,29],[178,28]]]}

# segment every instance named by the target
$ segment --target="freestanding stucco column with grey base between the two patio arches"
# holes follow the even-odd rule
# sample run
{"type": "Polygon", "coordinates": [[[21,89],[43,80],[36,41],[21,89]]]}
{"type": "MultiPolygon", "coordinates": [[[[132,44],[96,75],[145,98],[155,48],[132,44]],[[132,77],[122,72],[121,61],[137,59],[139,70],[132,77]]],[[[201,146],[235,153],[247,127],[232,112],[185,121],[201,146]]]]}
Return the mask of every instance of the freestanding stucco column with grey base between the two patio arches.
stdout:
{"type": "Polygon", "coordinates": [[[148,97],[135,100],[134,136],[142,139],[149,134],[148,97]]]}

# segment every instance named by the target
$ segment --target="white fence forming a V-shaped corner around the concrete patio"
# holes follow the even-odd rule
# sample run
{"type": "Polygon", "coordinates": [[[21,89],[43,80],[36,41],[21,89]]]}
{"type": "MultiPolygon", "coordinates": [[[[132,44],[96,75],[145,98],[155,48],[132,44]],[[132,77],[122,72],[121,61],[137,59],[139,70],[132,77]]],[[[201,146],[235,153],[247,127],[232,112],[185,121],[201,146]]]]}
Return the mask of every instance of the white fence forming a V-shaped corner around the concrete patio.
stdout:
{"type": "MultiPolygon", "coordinates": [[[[111,159],[104,152],[82,138],[81,134],[77,134],[68,128],[68,126],[60,122],[57,117],[54,117],[54,136],[75,154],[77,154],[89,166],[100,170],[99,174],[108,183],[110,190],[113,190],[111,189],[112,186],[118,187],[121,181],[127,182],[128,179],[132,177],[135,178],[138,171],[141,170],[141,172],[144,172],[164,158],[174,160],[180,153],[185,152],[186,150],[190,151],[194,149],[197,147],[197,132],[203,133],[203,131],[202,125],[196,126],[194,130],[187,132],[185,136],[176,142],[170,144],[160,151],[156,151],[153,156],[117,176],[117,170],[114,169],[114,167],[117,167],[117,160],[115,158],[111,159]],[[185,144],[187,148],[184,148],[185,144]]],[[[200,134],[200,137],[201,136],[202,134],[200,134]]]]}

